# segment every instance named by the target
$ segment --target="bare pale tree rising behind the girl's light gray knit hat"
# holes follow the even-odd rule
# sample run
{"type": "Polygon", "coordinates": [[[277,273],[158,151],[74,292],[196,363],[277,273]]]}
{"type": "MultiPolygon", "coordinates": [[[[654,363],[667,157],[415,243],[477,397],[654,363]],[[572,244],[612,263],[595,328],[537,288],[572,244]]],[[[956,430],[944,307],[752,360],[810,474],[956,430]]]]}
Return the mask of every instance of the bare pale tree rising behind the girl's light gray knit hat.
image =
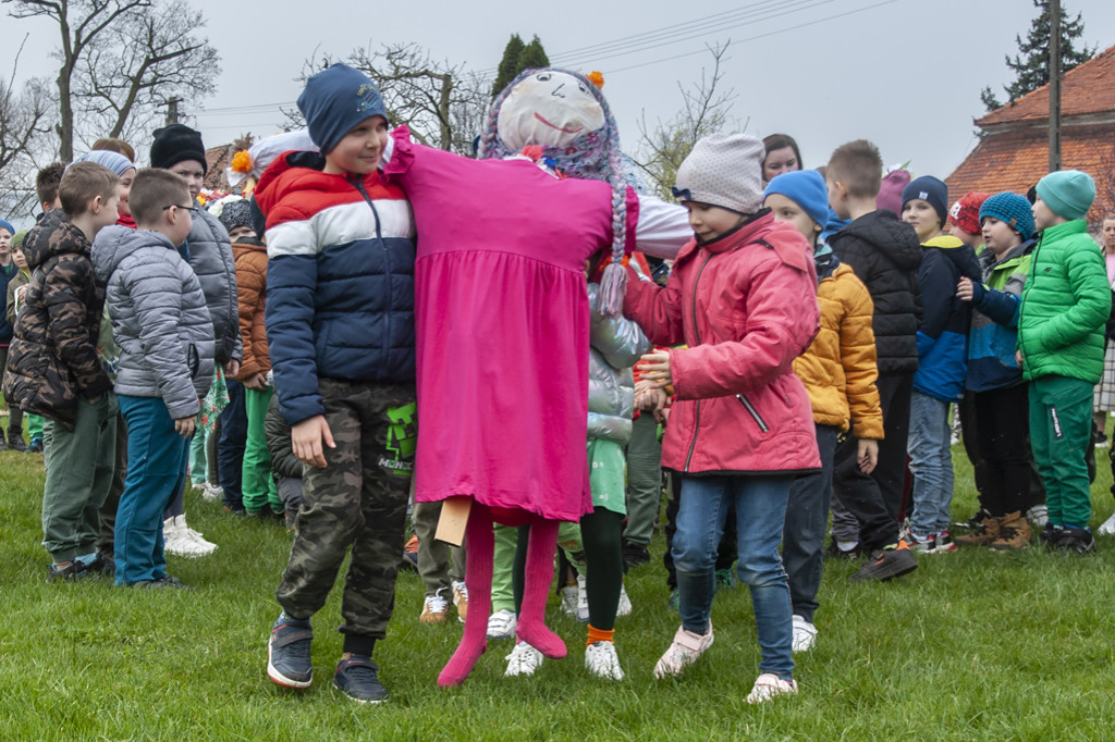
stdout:
{"type": "Polygon", "coordinates": [[[647,124],[643,111],[639,121],[639,144],[632,159],[650,178],[655,189],[663,198],[672,198],[670,188],[676,182],[678,167],[689,155],[698,139],[735,124],[730,116],[735,90],[720,91],[724,79],[720,61],[730,41],[708,47],[712,55],[712,70],[701,68],[700,81],[686,88],[678,82],[681,91],[681,110],[672,120],[659,119],[653,128],[647,124]]]}

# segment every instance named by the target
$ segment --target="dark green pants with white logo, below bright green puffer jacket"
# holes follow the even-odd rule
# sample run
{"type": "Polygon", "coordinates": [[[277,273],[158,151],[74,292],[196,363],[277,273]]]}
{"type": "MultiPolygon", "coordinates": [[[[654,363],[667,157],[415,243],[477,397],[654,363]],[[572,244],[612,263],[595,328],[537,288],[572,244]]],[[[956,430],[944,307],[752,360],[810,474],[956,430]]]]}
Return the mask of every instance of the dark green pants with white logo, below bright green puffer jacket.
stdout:
{"type": "Polygon", "coordinates": [[[1067,377],[1030,382],[1030,446],[1045,480],[1049,523],[1086,528],[1092,497],[1085,455],[1090,447],[1093,384],[1067,377]]]}

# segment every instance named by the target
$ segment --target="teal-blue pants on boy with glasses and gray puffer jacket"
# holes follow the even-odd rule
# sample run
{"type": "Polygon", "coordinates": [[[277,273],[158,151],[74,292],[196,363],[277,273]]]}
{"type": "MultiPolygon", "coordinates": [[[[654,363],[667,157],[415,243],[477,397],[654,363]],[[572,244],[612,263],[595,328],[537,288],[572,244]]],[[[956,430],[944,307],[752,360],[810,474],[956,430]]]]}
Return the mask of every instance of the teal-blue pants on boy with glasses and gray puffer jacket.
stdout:
{"type": "Polygon", "coordinates": [[[158,397],[117,397],[128,424],[128,473],[116,510],[116,584],[166,576],[163,511],[185,484],[190,440],[158,397]]]}

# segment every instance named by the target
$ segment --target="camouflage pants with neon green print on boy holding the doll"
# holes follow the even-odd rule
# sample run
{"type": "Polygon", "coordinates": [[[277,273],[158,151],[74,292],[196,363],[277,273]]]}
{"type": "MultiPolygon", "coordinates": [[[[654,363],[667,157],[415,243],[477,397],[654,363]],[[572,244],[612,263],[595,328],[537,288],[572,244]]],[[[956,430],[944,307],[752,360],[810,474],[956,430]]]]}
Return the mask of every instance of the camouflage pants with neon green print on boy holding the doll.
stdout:
{"type": "Polygon", "coordinates": [[[293,618],[309,618],[329,596],[345,554],[342,634],[386,635],[395,607],[417,417],[413,384],[319,381],[337,448],[323,469],[307,466],[290,563],[275,598],[293,618]]]}

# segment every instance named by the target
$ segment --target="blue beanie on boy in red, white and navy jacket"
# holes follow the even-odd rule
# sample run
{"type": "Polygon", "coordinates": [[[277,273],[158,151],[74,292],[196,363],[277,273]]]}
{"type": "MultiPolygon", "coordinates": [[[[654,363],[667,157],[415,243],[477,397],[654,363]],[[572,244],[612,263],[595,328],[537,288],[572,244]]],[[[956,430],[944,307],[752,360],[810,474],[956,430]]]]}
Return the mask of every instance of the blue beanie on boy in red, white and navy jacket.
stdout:
{"type": "Polygon", "coordinates": [[[310,138],[328,155],[360,121],[372,116],[387,118],[379,88],[363,72],[337,64],[306,81],[298,97],[310,128],[310,138]]]}

